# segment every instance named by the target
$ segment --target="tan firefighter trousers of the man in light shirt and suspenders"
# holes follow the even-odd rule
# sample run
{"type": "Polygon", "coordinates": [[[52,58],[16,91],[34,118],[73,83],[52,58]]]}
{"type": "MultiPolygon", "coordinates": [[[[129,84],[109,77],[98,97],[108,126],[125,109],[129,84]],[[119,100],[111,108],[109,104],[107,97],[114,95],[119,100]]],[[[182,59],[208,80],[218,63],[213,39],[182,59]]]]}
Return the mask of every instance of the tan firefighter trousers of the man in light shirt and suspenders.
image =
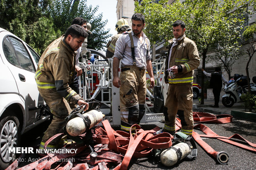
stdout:
{"type": "Polygon", "coordinates": [[[129,131],[133,124],[140,123],[145,114],[147,92],[145,69],[134,65],[123,67],[120,80],[121,129],[129,131]]]}

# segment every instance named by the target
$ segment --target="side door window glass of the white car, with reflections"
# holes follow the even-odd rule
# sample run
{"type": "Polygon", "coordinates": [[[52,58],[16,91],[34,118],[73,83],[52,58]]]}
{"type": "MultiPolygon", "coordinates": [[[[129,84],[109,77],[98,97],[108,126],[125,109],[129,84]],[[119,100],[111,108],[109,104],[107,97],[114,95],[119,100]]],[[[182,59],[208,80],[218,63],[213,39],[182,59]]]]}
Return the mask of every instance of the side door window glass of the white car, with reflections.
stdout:
{"type": "Polygon", "coordinates": [[[35,71],[33,62],[29,57],[28,51],[26,51],[26,48],[24,47],[22,42],[13,37],[9,37],[9,40],[12,42],[12,45],[16,51],[17,58],[19,60],[21,68],[24,68],[25,70],[29,71],[35,71]]]}

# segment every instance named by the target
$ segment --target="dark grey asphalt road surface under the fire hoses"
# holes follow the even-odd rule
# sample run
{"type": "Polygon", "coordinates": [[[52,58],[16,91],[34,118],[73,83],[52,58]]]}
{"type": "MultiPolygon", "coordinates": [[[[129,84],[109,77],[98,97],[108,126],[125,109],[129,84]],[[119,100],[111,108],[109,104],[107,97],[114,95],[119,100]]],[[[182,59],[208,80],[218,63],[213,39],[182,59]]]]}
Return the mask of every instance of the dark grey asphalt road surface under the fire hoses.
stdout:
{"type": "MultiPolygon", "coordinates": [[[[43,137],[43,132],[47,129],[49,125],[49,121],[43,123],[38,126],[38,128],[34,128],[24,135],[22,135],[21,147],[38,147],[40,141],[43,137]]],[[[242,121],[238,119],[233,119],[232,123],[226,124],[205,124],[215,133],[220,136],[229,137],[235,133],[238,133],[245,139],[250,142],[256,143],[256,123],[252,123],[249,121],[242,121]]],[[[155,126],[159,126],[162,128],[164,123],[155,122],[155,123],[142,123],[142,129],[150,130],[155,126]]],[[[114,127],[116,130],[116,127],[114,127]]],[[[199,130],[195,130],[199,134],[199,130]]],[[[220,165],[217,161],[208,155],[201,147],[197,145],[198,156],[194,161],[181,161],[180,163],[173,165],[172,167],[166,167],[161,163],[154,163],[154,158],[152,156],[148,156],[147,158],[140,159],[132,159],[129,164],[130,170],[160,170],[160,169],[173,169],[173,170],[256,170],[256,154],[239,147],[235,147],[231,144],[227,144],[220,140],[216,139],[203,139],[206,143],[208,143],[215,151],[225,151],[229,154],[230,159],[228,164],[220,165]]],[[[27,154],[26,160],[28,158],[38,158],[36,154],[27,154]]],[[[28,163],[28,161],[24,161],[19,165],[22,167],[28,163]]]]}

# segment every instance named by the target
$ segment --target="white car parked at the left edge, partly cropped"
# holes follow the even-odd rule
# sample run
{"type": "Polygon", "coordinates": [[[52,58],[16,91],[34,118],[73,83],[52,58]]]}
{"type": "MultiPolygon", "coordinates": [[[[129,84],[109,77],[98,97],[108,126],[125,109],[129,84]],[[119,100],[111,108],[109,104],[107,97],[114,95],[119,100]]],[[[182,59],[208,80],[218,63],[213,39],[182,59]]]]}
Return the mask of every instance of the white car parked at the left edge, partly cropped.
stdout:
{"type": "Polygon", "coordinates": [[[0,169],[17,155],[21,134],[50,117],[39,95],[35,72],[39,56],[24,41],[0,28],[0,169]]]}

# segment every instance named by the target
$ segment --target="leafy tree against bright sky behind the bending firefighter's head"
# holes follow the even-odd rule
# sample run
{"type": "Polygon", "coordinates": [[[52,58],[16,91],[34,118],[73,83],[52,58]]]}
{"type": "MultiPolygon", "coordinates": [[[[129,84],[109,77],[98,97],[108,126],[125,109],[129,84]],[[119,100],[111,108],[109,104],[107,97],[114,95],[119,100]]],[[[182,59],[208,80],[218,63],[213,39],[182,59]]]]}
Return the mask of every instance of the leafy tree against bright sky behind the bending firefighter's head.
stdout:
{"type": "Polygon", "coordinates": [[[88,37],[88,48],[100,50],[107,44],[111,37],[109,30],[104,30],[107,21],[102,21],[102,14],[95,15],[98,6],[92,8],[87,5],[87,0],[55,0],[50,11],[54,22],[55,32],[58,36],[65,33],[75,17],[82,17],[91,25],[92,36],[88,37]]]}

